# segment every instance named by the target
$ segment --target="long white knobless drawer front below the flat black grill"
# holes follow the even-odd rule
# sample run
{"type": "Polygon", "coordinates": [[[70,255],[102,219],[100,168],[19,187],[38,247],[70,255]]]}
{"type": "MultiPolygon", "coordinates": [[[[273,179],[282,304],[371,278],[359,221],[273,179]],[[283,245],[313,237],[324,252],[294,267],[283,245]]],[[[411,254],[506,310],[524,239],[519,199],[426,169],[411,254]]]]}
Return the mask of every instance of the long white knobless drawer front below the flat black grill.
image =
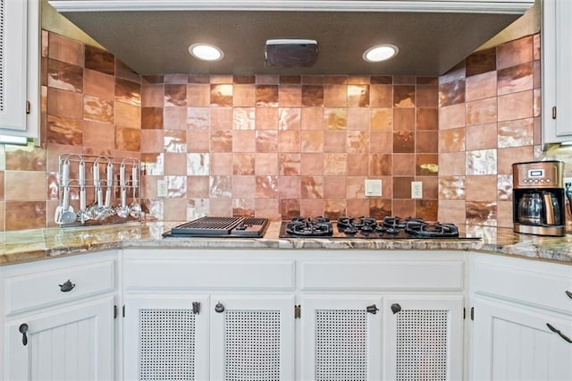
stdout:
{"type": "Polygon", "coordinates": [[[127,289],[292,290],[294,261],[133,259],[124,269],[127,289]]]}

